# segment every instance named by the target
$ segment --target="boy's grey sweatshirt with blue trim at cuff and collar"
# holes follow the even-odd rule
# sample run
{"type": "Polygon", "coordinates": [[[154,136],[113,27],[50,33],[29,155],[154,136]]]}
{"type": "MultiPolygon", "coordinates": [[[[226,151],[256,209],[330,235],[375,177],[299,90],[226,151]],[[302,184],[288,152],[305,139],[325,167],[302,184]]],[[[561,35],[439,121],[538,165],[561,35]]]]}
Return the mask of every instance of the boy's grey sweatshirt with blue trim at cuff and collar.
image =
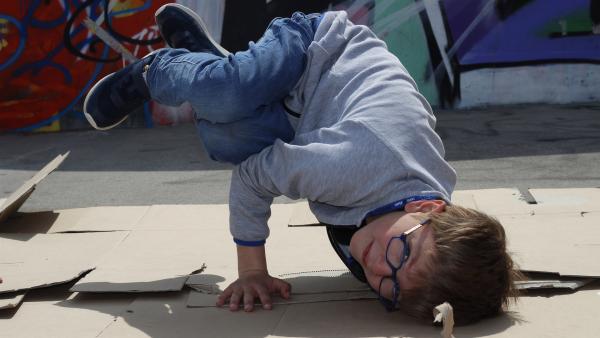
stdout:
{"type": "Polygon", "coordinates": [[[276,196],[305,198],[320,222],[359,227],[378,207],[416,195],[449,201],[456,173],[435,117],[385,43],[345,12],[324,15],[306,68],[286,99],[295,137],[277,140],[233,171],[230,229],[262,245],[276,196]]]}

